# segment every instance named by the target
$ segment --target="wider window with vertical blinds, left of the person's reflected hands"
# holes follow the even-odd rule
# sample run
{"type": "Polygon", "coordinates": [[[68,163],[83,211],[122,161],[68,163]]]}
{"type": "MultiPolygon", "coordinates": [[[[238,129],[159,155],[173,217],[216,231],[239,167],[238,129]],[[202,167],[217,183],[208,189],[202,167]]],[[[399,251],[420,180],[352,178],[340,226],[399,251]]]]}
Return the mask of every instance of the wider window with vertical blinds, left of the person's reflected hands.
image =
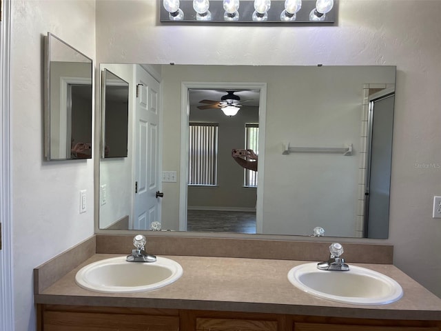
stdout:
{"type": "Polygon", "coordinates": [[[217,185],[218,123],[189,123],[188,185],[217,185]]]}

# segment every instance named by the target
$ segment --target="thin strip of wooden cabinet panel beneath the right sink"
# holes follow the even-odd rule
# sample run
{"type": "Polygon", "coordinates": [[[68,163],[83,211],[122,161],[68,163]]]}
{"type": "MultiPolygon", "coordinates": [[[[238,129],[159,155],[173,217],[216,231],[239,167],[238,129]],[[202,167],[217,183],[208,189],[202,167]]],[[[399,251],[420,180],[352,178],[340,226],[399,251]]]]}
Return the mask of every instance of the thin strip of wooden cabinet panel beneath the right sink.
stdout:
{"type": "Polygon", "coordinates": [[[294,323],[294,331],[439,331],[439,329],[436,327],[294,323]]]}

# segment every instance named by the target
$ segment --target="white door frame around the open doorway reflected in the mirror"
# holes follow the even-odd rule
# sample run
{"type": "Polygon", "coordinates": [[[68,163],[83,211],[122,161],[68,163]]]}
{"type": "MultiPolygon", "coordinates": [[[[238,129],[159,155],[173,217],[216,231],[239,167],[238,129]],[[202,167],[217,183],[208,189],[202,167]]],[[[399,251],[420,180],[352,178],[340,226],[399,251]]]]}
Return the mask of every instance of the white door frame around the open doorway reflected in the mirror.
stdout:
{"type": "Polygon", "coordinates": [[[267,113],[267,83],[227,83],[227,82],[181,82],[181,161],[179,176],[179,231],[187,230],[187,183],[188,183],[188,124],[189,124],[189,89],[207,90],[260,90],[259,99],[259,165],[256,199],[256,233],[263,230],[263,187],[265,168],[265,123],[267,113]]]}

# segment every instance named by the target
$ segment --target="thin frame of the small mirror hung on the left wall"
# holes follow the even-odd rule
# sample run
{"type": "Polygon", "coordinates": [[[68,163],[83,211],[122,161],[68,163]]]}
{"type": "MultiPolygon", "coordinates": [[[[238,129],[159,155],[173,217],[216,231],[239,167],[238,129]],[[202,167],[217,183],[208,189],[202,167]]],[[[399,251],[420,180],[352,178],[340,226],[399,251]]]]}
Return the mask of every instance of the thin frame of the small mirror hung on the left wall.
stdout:
{"type": "Polygon", "coordinates": [[[43,84],[43,89],[44,89],[44,159],[45,161],[70,161],[70,160],[79,160],[79,159],[92,159],[93,156],[93,131],[92,131],[92,119],[94,118],[94,103],[95,103],[95,99],[94,99],[94,62],[93,60],[88,57],[87,55],[83,54],[82,52],[80,52],[79,50],[76,50],[76,48],[70,46],[70,44],[66,43],[65,41],[63,41],[63,39],[60,39],[59,37],[55,36],[54,34],[52,34],[51,32],[48,32],[48,34],[45,36],[44,39],[45,43],[44,43],[44,48],[45,48],[45,52],[44,52],[44,84],[43,84]],[[51,158],[50,155],[50,114],[51,114],[51,108],[54,107],[53,105],[51,105],[50,102],[50,63],[51,63],[51,57],[52,57],[52,52],[51,52],[51,45],[52,45],[52,38],[56,39],[57,41],[63,43],[65,46],[67,46],[68,48],[70,48],[71,50],[73,50],[74,52],[80,54],[81,56],[83,56],[85,59],[88,59],[90,61],[90,83],[92,86],[92,92],[91,92],[91,112],[92,112],[92,116],[90,117],[90,132],[91,132],[91,145],[90,145],[90,157],[87,158],[78,158],[78,159],[72,159],[72,158],[65,158],[65,159],[53,159],[51,158]],[[51,107],[52,106],[52,107],[51,107]]]}

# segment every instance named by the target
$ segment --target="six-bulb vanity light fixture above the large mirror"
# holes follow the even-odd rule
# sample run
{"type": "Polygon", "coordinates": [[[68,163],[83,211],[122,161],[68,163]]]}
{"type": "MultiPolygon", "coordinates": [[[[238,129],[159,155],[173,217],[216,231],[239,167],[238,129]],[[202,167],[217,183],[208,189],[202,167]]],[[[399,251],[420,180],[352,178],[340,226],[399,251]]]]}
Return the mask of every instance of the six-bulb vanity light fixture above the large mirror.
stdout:
{"type": "Polygon", "coordinates": [[[329,25],[338,0],[161,0],[161,23],[329,25]]]}

